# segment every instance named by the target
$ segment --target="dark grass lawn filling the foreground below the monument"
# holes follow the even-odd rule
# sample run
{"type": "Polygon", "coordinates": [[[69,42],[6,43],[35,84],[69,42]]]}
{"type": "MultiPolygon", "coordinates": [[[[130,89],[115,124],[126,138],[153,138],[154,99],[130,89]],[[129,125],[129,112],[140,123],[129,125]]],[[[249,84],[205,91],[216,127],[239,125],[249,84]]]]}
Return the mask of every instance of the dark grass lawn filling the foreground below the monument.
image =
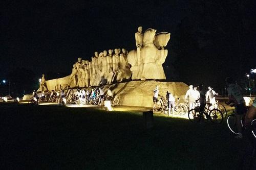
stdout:
{"type": "Polygon", "coordinates": [[[241,140],[221,125],[89,108],[0,105],[0,169],[237,169],[241,140]]]}

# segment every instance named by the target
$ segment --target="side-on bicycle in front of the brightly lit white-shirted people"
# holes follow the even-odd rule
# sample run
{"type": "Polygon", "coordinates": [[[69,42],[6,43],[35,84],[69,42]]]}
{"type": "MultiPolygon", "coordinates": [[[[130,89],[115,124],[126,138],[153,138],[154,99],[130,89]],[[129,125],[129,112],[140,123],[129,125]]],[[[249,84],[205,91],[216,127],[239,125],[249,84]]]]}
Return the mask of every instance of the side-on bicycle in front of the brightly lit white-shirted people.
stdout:
{"type": "MultiPolygon", "coordinates": [[[[188,111],[188,119],[190,122],[200,122],[201,120],[201,113],[200,113],[200,106],[199,102],[196,101],[197,106],[194,109],[190,109],[188,111]]],[[[204,109],[203,110],[203,115],[205,115],[206,119],[210,120],[210,122],[215,123],[215,124],[221,124],[223,121],[223,114],[219,109],[204,109]]]]}

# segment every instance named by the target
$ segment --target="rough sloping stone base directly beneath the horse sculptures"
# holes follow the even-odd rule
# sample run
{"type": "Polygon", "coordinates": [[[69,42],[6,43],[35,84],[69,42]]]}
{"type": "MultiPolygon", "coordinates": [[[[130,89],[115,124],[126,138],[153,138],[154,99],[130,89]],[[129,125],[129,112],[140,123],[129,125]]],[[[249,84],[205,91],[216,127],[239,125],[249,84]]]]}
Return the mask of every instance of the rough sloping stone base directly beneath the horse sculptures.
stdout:
{"type": "Polygon", "coordinates": [[[188,90],[188,85],[183,82],[159,82],[152,80],[106,85],[104,86],[104,91],[106,87],[110,87],[118,105],[153,107],[153,90],[157,85],[159,86],[159,95],[165,98],[166,91],[168,90],[175,95],[175,98],[181,98],[182,102],[188,90]]]}

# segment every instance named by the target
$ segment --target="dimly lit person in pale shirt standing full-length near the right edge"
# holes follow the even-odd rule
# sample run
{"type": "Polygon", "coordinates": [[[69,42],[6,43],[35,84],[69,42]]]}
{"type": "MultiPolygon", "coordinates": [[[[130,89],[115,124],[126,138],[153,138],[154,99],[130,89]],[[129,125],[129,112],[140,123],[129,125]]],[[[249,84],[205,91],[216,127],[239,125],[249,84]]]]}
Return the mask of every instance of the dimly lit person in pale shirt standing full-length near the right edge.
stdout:
{"type": "Polygon", "coordinates": [[[228,92],[228,102],[225,102],[227,105],[234,103],[236,105],[236,125],[238,128],[238,135],[235,138],[242,138],[242,126],[240,124],[240,119],[246,111],[245,101],[242,95],[242,88],[233,83],[233,80],[230,77],[226,78],[227,92],[228,92]]]}

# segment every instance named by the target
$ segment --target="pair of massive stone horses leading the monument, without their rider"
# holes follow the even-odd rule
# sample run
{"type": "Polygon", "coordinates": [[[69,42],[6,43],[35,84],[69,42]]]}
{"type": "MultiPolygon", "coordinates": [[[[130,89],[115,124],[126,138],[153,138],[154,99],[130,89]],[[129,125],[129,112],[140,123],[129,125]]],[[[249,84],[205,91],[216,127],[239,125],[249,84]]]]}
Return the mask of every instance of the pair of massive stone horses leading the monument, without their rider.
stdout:
{"type": "MultiPolygon", "coordinates": [[[[137,53],[138,48],[129,52],[127,61],[132,66],[132,80],[166,79],[162,64],[168,54],[168,51],[164,50],[164,46],[167,45],[170,34],[163,32],[155,35],[156,30],[147,29],[142,36],[143,45],[140,48],[140,53],[137,53]]],[[[140,46],[140,43],[138,44],[140,46]]]]}

